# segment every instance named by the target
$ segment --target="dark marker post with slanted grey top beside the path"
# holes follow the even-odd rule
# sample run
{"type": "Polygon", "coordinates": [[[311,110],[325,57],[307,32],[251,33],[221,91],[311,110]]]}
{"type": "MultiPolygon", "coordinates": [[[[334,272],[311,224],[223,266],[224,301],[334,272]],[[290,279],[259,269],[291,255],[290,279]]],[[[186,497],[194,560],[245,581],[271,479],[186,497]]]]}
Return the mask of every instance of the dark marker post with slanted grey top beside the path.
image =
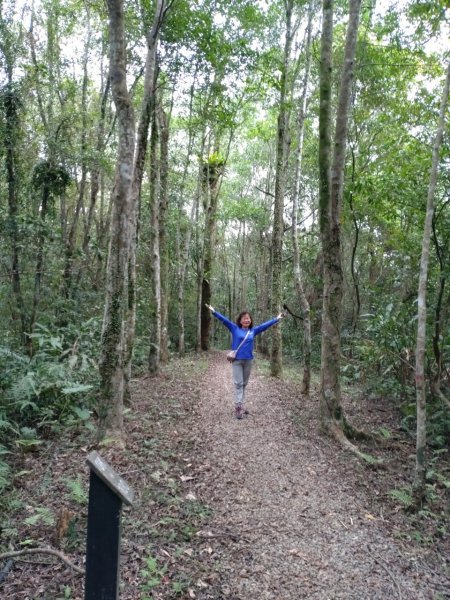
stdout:
{"type": "Polygon", "coordinates": [[[91,468],[86,544],[85,600],[117,600],[119,593],[120,514],[133,504],[129,485],[97,453],[91,468]]]}

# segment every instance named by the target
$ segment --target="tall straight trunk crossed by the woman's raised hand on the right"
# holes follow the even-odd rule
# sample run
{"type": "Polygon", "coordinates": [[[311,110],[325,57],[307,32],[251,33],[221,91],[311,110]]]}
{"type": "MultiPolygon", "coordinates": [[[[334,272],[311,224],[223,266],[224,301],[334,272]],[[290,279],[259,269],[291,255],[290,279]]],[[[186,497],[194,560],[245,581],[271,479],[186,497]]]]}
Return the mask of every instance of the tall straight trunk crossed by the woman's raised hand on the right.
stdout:
{"type": "MultiPolygon", "coordinates": [[[[272,236],[272,294],[271,312],[276,315],[280,312],[283,303],[282,291],[282,259],[283,259],[283,233],[284,233],[284,195],[286,191],[287,162],[289,157],[290,133],[288,107],[289,90],[289,63],[292,48],[293,28],[292,12],[293,0],[285,2],[286,10],[286,38],[284,43],[284,61],[280,78],[280,112],[278,114],[277,132],[277,159],[275,173],[275,200],[273,208],[273,236],[272,236]]],[[[270,372],[274,377],[280,377],[283,372],[281,329],[275,327],[271,332],[272,352],[270,372]]]]}

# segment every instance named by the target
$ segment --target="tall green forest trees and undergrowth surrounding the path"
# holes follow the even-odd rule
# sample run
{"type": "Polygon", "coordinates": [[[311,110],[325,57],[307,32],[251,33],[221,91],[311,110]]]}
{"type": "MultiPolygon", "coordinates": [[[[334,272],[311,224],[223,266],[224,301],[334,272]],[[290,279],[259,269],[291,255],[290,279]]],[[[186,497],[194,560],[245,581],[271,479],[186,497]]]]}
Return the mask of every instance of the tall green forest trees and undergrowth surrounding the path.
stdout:
{"type": "Polygon", "coordinates": [[[133,381],[228,347],[206,305],[285,311],[268,377],[365,468],[387,406],[448,536],[448,2],[0,6],[0,550],[28,456],[126,453],[133,381]]]}

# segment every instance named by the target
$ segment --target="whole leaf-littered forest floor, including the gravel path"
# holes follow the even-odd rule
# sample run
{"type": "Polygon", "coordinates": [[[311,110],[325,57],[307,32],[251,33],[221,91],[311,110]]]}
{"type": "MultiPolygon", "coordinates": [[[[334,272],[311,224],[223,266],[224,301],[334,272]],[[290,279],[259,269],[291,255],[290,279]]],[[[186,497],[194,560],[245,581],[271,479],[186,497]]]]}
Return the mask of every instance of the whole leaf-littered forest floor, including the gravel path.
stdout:
{"type": "MultiPolygon", "coordinates": [[[[305,399],[298,374],[267,369],[256,361],[242,420],[222,352],[133,381],[127,448],[99,450],[136,496],[122,516],[121,600],[450,598],[448,495],[417,516],[390,494],[414,464],[392,403],[345,396],[353,423],[391,432],[360,445],[383,459],[374,468],[320,433],[317,390],[305,399]]],[[[3,548],[59,548],[84,566],[92,437],[61,435],[17,460],[3,548]]],[[[53,555],[0,560],[2,573],[5,600],[83,598],[83,576],[53,555]]]]}

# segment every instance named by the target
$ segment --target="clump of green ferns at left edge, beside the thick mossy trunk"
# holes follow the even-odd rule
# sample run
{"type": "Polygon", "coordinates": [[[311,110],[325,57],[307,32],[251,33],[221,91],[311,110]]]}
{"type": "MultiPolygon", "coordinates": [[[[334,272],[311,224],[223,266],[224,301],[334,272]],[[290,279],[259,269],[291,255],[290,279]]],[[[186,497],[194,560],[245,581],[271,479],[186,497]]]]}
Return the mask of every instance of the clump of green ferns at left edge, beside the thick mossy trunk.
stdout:
{"type": "Polygon", "coordinates": [[[37,325],[31,358],[0,348],[0,434],[22,451],[34,450],[44,431],[90,427],[97,368],[90,345],[93,322],[53,333],[37,325]]]}

